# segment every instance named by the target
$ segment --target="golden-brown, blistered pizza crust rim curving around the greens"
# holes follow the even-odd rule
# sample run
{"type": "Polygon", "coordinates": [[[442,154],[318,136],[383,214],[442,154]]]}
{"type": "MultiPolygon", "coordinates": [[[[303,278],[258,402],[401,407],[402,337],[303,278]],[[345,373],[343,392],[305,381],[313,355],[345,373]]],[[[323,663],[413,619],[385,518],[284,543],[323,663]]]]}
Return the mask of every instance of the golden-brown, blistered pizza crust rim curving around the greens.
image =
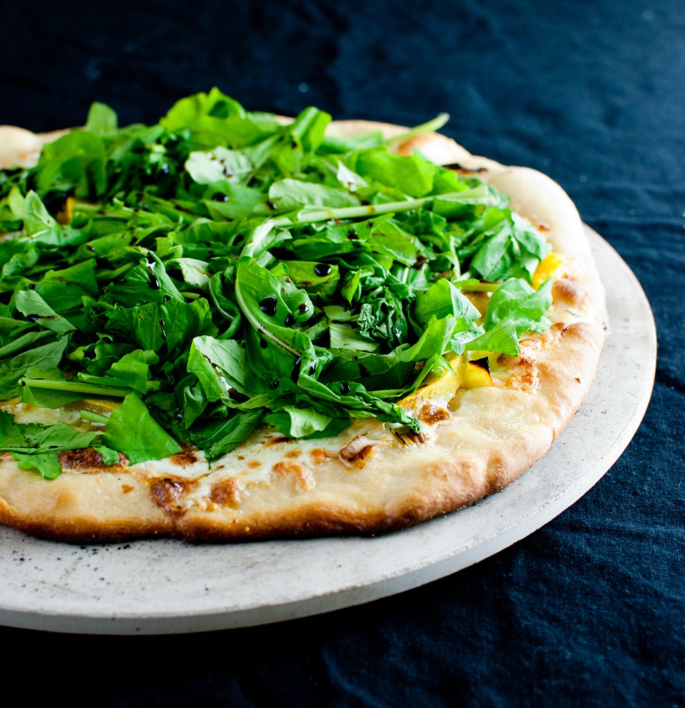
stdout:
{"type": "MultiPolygon", "coordinates": [[[[336,121],[340,137],[408,129],[336,121]]],[[[423,441],[378,421],[356,420],[338,438],[291,441],[266,426],[229,455],[202,453],[103,468],[86,457],[62,461],[44,481],[4,454],[0,521],[69,542],[168,536],[188,541],[374,534],[478,501],[510,484],[548,450],[587,395],[608,331],[604,288],[578,212],[547,176],[473,156],[443,135],[393,145],[419,147],[439,164],[459,164],[512,198],[563,256],[548,333],[522,342],[517,358],[491,362],[493,387],[440,392],[417,412],[423,441]],[[484,170],[484,171],[483,171],[484,170]]]]}

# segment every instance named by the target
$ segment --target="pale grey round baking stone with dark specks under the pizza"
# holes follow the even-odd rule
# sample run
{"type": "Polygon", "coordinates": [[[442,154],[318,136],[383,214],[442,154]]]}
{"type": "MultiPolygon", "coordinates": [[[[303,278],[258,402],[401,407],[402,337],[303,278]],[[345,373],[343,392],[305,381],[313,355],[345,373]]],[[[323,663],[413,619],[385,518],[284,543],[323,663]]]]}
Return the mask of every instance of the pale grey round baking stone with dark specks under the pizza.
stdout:
{"type": "Polygon", "coordinates": [[[654,381],[655,327],[643,290],[611,246],[589,236],[611,321],[597,377],[548,454],[502,492],[376,538],[78,547],[0,527],[0,624],[157,634],[275,622],[420,586],[529,535],[621,455],[654,381]]]}

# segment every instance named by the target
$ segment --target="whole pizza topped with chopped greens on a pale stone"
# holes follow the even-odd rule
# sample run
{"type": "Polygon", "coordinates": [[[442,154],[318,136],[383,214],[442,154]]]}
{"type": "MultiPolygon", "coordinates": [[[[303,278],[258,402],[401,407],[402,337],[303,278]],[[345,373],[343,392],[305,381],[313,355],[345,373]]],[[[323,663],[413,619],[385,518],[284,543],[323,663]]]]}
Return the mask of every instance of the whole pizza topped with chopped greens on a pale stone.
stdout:
{"type": "Polygon", "coordinates": [[[0,522],[396,530],[503,489],[608,328],[575,206],[436,132],[246,111],[0,127],[0,522]]]}

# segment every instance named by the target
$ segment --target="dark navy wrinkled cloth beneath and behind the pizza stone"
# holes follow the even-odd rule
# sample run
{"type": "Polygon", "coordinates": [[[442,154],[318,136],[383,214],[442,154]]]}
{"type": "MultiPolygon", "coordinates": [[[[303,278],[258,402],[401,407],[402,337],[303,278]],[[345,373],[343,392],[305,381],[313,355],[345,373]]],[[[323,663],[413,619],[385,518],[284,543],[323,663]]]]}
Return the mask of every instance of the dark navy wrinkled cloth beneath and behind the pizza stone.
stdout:
{"type": "Polygon", "coordinates": [[[621,459],[510,549],[372,605],[214,634],[0,628],[4,706],[685,705],[685,4],[664,0],[0,3],[0,123],[252,110],[415,125],[541,169],[642,282],[654,395],[621,459]],[[97,685],[93,692],[92,683],[97,685]]]}

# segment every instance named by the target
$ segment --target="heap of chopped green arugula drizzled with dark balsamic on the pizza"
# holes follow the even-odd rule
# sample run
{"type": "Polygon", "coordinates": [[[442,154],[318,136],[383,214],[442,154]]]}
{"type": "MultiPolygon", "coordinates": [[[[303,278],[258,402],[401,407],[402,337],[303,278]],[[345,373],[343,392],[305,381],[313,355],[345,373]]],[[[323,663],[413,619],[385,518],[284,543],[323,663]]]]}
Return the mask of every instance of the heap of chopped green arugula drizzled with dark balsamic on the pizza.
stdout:
{"type": "Polygon", "coordinates": [[[393,401],[443,355],[515,355],[548,328],[551,280],[531,275],[550,246],[505,195],[329,121],[280,125],[218,89],[151,127],[94,103],[38,166],[0,171],[0,399],[121,403],[83,411],[101,436],[1,413],[0,447],[51,477],[90,445],[107,464],[186,442],[215,459],[260,422],[418,432],[393,401]],[[482,324],[465,290],[493,291],[482,324]]]}

